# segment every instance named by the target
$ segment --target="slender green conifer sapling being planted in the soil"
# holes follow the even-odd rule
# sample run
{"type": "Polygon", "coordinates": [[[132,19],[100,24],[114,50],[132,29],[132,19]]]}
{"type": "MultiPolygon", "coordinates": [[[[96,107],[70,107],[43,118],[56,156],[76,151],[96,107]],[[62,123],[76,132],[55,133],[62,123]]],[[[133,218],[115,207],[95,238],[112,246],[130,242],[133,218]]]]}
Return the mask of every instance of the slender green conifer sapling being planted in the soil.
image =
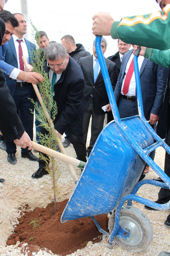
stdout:
{"type": "MultiPolygon", "coordinates": [[[[53,150],[57,150],[58,136],[55,132],[54,124],[53,124],[53,121],[57,114],[57,105],[53,99],[53,95],[51,91],[51,83],[48,78],[48,74],[44,72],[45,53],[43,49],[39,48],[40,35],[38,33],[37,28],[32,24],[31,20],[30,22],[32,26],[32,36],[33,38],[35,38],[37,42],[37,44],[35,43],[36,50],[32,51],[32,59],[33,59],[32,66],[34,68],[34,71],[41,74],[44,78],[44,81],[42,83],[39,82],[38,84],[42,102],[43,102],[43,107],[41,105],[38,105],[37,101],[35,102],[33,99],[31,99],[31,101],[35,106],[35,109],[38,112],[38,115],[35,114],[35,117],[37,120],[40,121],[39,125],[44,127],[44,129],[47,131],[45,135],[41,133],[37,133],[37,134],[38,134],[41,145],[51,148],[53,150]],[[48,117],[45,112],[47,113],[48,117]],[[51,117],[51,119],[49,117],[51,117]]],[[[58,167],[58,162],[56,158],[51,156],[45,156],[42,154],[40,154],[39,158],[45,161],[46,163],[45,169],[47,170],[47,172],[50,174],[50,177],[52,178],[51,187],[50,187],[50,184],[48,184],[48,182],[46,181],[43,182],[43,184],[47,184],[49,186],[48,191],[50,195],[51,195],[51,189],[53,190],[54,198],[52,198],[52,200],[54,200],[54,206],[55,206],[55,212],[56,212],[57,210],[56,197],[59,196],[59,193],[60,193],[60,190],[58,188],[58,180],[61,175],[61,172],[58,167]]]]}

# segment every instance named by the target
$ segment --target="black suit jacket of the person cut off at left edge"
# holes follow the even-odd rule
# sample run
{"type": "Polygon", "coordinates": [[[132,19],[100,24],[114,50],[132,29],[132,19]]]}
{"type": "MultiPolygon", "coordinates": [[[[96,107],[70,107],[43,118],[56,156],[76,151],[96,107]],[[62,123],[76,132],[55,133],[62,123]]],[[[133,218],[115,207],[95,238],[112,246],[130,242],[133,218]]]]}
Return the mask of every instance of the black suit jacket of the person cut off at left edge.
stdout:
{"type": "MultiPolygon", "coordinates": [[[[5,23],[0,18],[0,45],[5,33],[5,23]]],[[[16,113],[16,106],[0,71],[0,130],[7,141],[20,139],[24,129],[16,113]]]]}

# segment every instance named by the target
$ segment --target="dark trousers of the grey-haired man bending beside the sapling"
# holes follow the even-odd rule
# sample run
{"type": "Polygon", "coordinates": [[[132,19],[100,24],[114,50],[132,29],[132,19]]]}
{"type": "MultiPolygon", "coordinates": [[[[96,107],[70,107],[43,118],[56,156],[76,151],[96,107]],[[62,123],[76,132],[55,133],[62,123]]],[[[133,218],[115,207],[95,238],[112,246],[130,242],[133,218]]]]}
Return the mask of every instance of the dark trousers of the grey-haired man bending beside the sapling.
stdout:
{"type": "MultiPolygon", "coordinates": [[[[75,148],[77,157],[79,160],[86,162],[86,146],[85,144],[77,137],[77,135],[72,132],[72,130],[70,129],[70,127],[67,127],[67,131],[68,131],[68,135],[70,137],[70,141],[72,143],[72,145],[75,148]]],[[[40,127],[40,132],[42,134],[47,133],[46,130],[43,127],[40,127]]],[[[41,153],[42,154],[42,153],[41,153]]],[[[45,154],[43,154],[44,156],[46,156],[45,154]]],[[[47,156],[46,156],[47,157],[47,156]]],[[[42,161],[41,159],[39,159],[39,167],[40,168],[44,168],[45,167],[45,162],[42,161]]]]}

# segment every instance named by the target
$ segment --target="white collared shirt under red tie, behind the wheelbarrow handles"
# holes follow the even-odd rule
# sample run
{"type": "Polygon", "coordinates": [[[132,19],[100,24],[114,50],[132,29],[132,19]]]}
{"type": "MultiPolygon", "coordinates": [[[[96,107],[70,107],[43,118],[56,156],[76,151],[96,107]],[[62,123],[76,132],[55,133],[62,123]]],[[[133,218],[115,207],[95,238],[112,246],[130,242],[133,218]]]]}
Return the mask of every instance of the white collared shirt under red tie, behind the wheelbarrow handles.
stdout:
{"type": "MultiPolygon", "coordinates": [[[[130,67],[130,64],[131,64],[131,61],[132,61],[133,57],[134,57],[134,55],[132,53],[130,58],[129,58],[129,60],[128,60],[127,66],[126,66],[126,70],[125,70],[126,75],[127,75],[127,72],[128,72],[128,69],[130,67]]],[[[140,71],[140,68],[142,66],[143,59],[144,59],[143,56],[139,56],[138,57],[139,71],[140,71]]],[[[124,87],[124,82],[125,82],[125,79],[126,79],[126,75],[124,76],[124,79],[123,79],[123,82],[122,82],[122,88],[121,88],[121,92],[120,92],[122,95],[124,95],[123,87],[124,87]]],[[[136,96],[135,72],[133,72],[133,75],[132,75],[132,78],[131,78],[131,81],[130,81],[130,84],[129,84],[129,91],[126,94],[126,96],[136,96]]]]}

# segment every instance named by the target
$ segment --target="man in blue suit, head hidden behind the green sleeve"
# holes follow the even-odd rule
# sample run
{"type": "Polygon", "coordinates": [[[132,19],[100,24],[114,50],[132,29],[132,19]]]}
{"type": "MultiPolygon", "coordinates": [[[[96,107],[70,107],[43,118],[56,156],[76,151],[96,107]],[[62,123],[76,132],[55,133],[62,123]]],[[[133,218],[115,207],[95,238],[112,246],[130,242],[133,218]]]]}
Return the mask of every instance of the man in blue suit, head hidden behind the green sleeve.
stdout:
{"type": "MultiPolygon", "coordinates": [[[[124,95],[126,75],[133,59],[132,53],[133,50],[124,55],[120,74],[114,90],[120,118],[138,114],[134,72],[131,76],[129,89],[124,95]]],[[[168,69],[159,66],[142,56],[139,56],[138,63],[144,116],[147,120],[150,120],[150,124],[155,124],[156,126],[156,122],[159,119],[162,109],[168,69]]]]}

